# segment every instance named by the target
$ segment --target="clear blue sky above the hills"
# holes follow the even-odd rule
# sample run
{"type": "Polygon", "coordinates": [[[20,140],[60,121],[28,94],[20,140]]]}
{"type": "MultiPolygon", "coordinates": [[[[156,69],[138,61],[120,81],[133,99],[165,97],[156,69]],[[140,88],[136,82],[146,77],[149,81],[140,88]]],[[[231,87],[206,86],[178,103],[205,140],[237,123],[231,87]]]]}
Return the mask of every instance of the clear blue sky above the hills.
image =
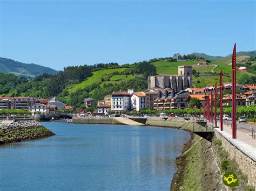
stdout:
{"type": "Polygon", "coordinates": [[[58,70],[255,49],[254,1],[0,2],[0,56],[58,70]]]}

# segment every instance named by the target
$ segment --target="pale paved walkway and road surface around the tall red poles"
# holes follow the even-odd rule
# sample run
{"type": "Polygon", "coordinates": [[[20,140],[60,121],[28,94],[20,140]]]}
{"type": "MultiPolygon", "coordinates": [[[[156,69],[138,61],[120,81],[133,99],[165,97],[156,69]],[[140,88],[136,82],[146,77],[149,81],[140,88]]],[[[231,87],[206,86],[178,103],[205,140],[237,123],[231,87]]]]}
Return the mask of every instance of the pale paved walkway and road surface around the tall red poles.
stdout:
{"type": "MultiPolygon", "coordinates": [[[[220,126],[220,123],[218,123],[218,126],[220,126]]],[[[244,152],[248,155],[248,157],[256,161],[256,139],[252,138],[252,130],[246,129],[248,132],[244,132],[244,129],[242,129],[242,127],[238,127],[237,125],[237,139],[232,138],[232,129],[230,124],[229,126],[224,125],[223,131],[220,131],[219,128],[215,128],[214,130],[218,131],[228,140],[228,142],[239,148],[240,151],[244,152]]]]}

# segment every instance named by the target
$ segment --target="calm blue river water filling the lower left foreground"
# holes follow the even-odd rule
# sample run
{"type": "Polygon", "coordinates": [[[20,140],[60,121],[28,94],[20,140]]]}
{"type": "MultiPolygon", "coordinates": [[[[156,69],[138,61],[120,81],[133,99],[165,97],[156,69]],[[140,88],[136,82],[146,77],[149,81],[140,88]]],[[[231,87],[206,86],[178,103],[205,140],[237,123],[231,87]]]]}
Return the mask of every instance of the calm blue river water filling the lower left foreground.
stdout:
{"type": "Polygon", "coordinates": [[[44,122],[56,136],[0,145],[1,190],[170,190],[186,131],[44,122]]]}

